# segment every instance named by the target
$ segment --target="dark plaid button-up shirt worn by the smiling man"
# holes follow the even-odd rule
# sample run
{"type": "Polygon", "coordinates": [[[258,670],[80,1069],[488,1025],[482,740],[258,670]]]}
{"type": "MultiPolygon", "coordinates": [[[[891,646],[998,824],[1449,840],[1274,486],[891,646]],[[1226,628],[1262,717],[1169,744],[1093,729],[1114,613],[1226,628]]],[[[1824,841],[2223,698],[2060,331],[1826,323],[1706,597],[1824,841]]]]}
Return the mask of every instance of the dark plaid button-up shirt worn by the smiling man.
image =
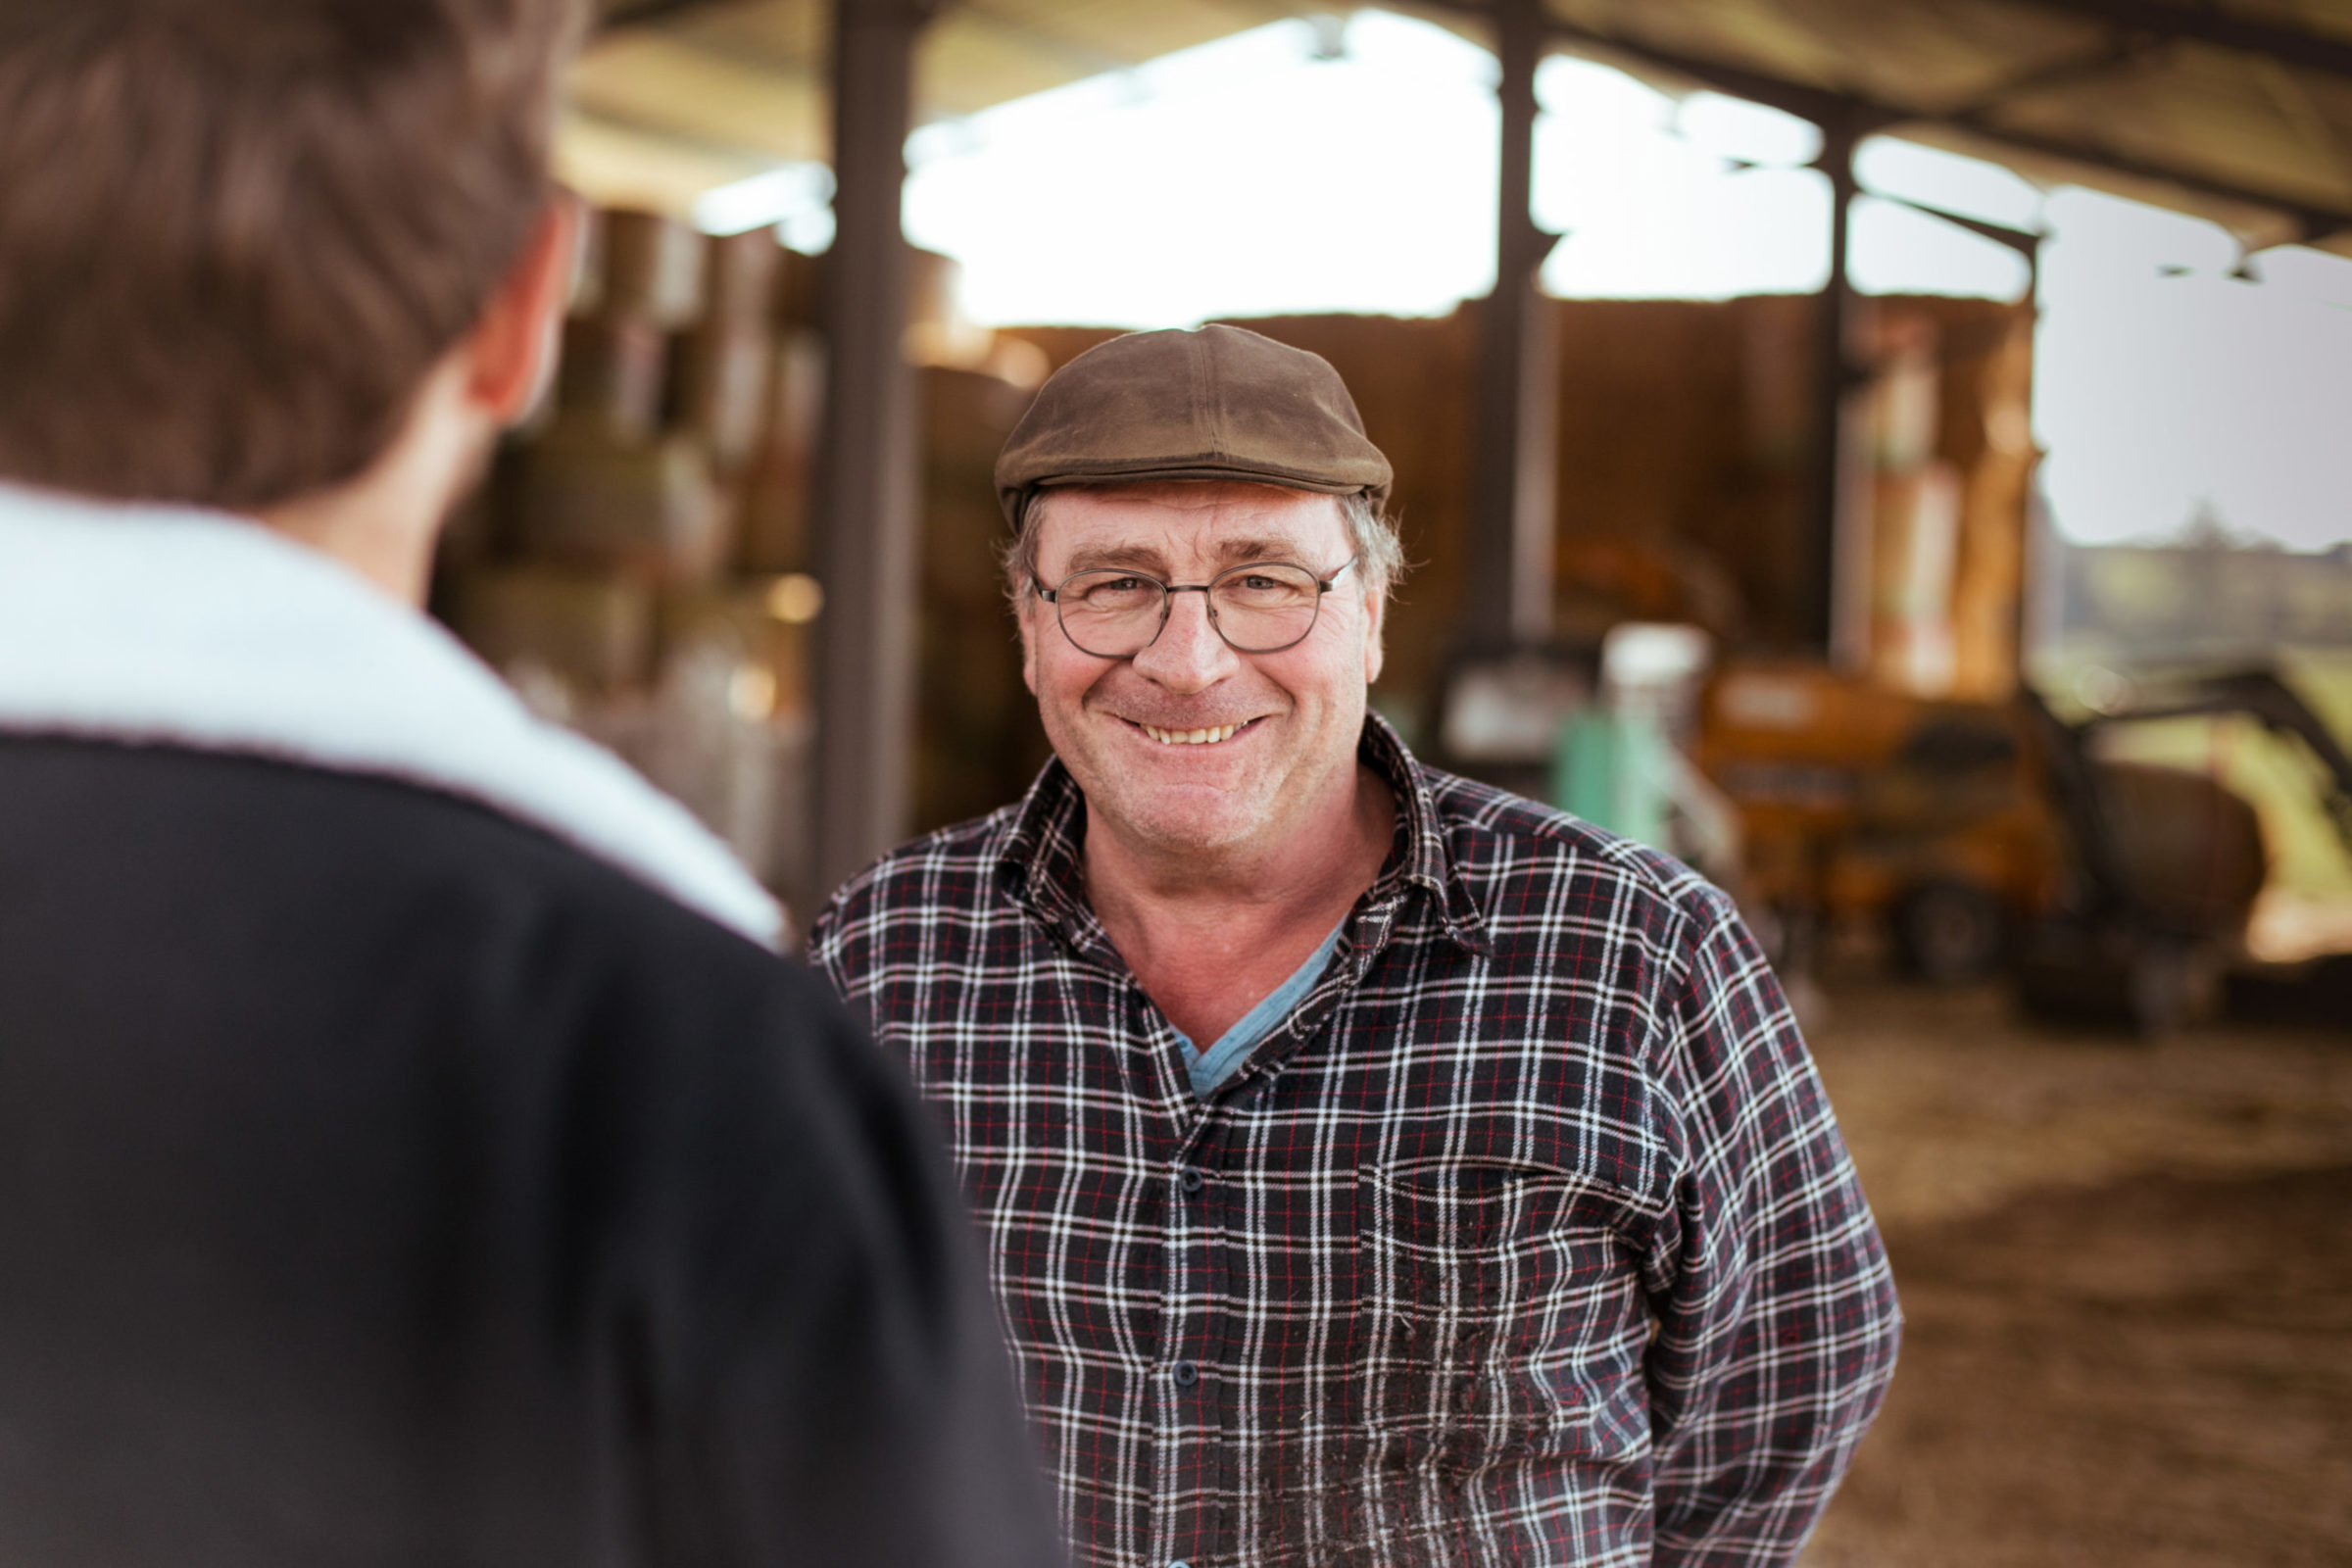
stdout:
{"type": "Polygon", "coordinates": [[[1665,856],[1362,755],[1388,865],[1207,1103],[1058,762],[814,926],[946,1124],[1080,1561],[1790,1561],[1898,1314],[1771,971],[1665,856]]]}

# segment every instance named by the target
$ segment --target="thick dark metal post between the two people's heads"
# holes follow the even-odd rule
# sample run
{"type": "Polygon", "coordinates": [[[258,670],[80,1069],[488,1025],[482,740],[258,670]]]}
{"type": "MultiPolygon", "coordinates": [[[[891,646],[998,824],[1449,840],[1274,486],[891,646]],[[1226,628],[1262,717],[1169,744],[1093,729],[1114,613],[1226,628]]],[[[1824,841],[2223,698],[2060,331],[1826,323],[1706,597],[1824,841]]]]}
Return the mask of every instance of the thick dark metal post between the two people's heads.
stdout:
{"type": "Polygon", "coordinates": [[[816,475],[816,778],[802,914],[906,835],[915,729],[920,425],[898,228],[922,0],[835,0],[835,237],[816,475]]]}

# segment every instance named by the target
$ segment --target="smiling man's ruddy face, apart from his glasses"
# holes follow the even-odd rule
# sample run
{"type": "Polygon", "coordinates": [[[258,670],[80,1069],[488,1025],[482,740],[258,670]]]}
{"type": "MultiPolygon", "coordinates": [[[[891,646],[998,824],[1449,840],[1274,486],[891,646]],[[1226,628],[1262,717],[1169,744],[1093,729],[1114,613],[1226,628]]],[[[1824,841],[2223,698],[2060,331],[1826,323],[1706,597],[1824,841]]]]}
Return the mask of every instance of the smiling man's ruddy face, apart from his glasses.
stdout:
{"type": "MultiPolygon", "coordinates": [[[[1329,578],[1352,552],[1331,496],[1265,484],[1122,484],[1054,491],[1037,578],[1054,588],[1073,571],[1120,567],[1162,583],[1207,583],[1247,562],[1296,562],[1329,578]]],[[[1082,654],[1054,607],[1030,595],[1021,651],[1044,733],[1087,792],[1089,813],[1131,839],[1176,851],[1247,849],[1352,799],[1364,689],[1381,672],[1381,607],[1367,602],[1362,567],[1322,597],[1315,630],[1279,654],[1228,646],[1200,592],[1171,595],[1160,639],[1131,658],[1082,654]],[[1188,738],[1228,726],[1225,738],[1188,738]]]]}

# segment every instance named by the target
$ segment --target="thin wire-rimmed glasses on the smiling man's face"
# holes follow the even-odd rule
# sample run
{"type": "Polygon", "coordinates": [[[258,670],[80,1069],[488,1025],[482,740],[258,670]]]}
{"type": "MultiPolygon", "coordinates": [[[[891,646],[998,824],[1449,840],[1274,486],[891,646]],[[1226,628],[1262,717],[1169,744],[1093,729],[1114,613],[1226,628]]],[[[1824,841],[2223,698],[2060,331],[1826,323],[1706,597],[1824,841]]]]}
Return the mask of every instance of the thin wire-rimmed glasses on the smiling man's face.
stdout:
{"type": "Polygon", "coordinates": [[[1162,583],[1122,567],[1073,571],[1051,588],[1030,574],[1030,583],[1054,607],[1070,646],[1094,658],[1134,658],[1152,646],[1169,623],[1169,597],[1178,592],[1204,597],[1209,625],[1235,654],[1279,654],[1305,642],[1322,597],[1359,559],[1350,555],[1329,576],[1315,576],[1298,562],[1249,562],[1207,583],[1162,583]]]}

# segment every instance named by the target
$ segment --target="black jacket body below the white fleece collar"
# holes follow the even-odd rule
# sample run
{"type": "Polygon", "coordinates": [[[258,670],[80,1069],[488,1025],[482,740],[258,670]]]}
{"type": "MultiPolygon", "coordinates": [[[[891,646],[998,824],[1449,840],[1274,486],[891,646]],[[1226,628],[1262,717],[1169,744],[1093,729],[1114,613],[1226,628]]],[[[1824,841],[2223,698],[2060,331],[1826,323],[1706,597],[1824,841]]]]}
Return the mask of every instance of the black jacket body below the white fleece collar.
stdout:
{"type": "Polygon", "coordinates": [[[35,654],[0,1563],[1056,1561],[953,1180],[818,983],[560,820],[141,733],[35,654]]]}

